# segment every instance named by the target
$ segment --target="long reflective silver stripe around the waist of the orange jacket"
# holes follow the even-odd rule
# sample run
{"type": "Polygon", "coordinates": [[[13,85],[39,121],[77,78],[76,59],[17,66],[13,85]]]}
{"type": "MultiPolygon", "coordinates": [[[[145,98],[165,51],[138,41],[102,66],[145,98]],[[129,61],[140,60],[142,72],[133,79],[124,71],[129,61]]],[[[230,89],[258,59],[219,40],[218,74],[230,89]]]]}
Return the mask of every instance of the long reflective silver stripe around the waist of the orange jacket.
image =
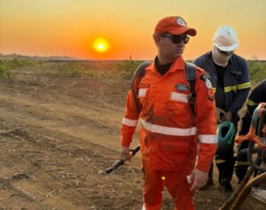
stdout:
{"type": "Polygon", "coordinates": [[[150,122],[146,122],[140,119],[140,123],[143,128],[159,134],[171,135],[171,136],[193,136],[196,135],[196,127],[192,128],[169,128],[165,126],[154,125],[150,122]]]}

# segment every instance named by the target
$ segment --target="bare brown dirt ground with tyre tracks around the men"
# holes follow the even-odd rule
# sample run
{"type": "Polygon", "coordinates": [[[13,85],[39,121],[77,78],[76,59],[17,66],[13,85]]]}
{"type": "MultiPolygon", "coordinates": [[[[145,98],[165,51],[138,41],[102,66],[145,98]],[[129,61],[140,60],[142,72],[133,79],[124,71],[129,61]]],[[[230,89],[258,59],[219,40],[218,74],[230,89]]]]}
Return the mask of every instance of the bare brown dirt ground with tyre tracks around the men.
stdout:
{"type": "MultiPolygon", "coordinates": [[[[128,81],[53,77],[21,68],[14,78],[1,79],[0,89],[1,210],[141,209],[139,154],[105,173],[120,155],[128,81]]],[[[216,183],[198,192],[195,204],[218,209],[229,196],[216,183]]],[[[172,208],[165,191],[163,209],[172,208]]],[[[248,199],[241,209],[263,206],[248,199]]]]}

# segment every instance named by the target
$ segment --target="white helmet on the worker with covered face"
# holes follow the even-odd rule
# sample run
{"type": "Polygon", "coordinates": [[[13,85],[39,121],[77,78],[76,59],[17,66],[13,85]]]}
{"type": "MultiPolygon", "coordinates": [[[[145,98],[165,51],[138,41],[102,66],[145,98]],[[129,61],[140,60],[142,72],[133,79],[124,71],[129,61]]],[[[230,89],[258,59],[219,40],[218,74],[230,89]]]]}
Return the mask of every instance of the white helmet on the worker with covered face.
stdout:
{"type": "Polygon", "coordinates": [[[219,27],[215,32],[213,43],[220,51],[234,51],[239,47],[238,36],[230,26],[219,27]]]}

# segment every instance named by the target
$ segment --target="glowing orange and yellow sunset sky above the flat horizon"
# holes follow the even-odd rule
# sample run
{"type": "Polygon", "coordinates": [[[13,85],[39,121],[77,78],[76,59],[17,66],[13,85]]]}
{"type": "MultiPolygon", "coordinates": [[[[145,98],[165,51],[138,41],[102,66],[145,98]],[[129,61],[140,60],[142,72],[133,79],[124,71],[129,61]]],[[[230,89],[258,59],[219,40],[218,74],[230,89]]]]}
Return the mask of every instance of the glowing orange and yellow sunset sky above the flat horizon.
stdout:
{"type": "Polygon", "coordinates": [[[184,58],[211,50],[215,29],[231,25],[237,54],[266,59],[266,0],[0,0],[0,53],[87,59],[153,59],[153,29],[179,15],[198,35],[184,58]],[[109,48],[93,47],[105,39],[109,48]]]}

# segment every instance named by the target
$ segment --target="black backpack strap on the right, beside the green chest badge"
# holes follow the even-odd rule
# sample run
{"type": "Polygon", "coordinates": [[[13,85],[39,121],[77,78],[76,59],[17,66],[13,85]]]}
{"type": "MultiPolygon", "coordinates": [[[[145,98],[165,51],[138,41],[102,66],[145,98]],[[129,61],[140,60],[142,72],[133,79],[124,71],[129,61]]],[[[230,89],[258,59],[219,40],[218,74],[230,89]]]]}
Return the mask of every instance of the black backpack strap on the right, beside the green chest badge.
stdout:
{"type": "Polygon", "coordinates": [[[192,106],[192,110],[194,111],[194,105],[196,100],[195,93],[195,81],[196,81],[196,66],[194,64],[185,62],[185,75],[188,82],[190,82],[191,86],[191,94],[189,95],[189,104],[192,106]]]}

